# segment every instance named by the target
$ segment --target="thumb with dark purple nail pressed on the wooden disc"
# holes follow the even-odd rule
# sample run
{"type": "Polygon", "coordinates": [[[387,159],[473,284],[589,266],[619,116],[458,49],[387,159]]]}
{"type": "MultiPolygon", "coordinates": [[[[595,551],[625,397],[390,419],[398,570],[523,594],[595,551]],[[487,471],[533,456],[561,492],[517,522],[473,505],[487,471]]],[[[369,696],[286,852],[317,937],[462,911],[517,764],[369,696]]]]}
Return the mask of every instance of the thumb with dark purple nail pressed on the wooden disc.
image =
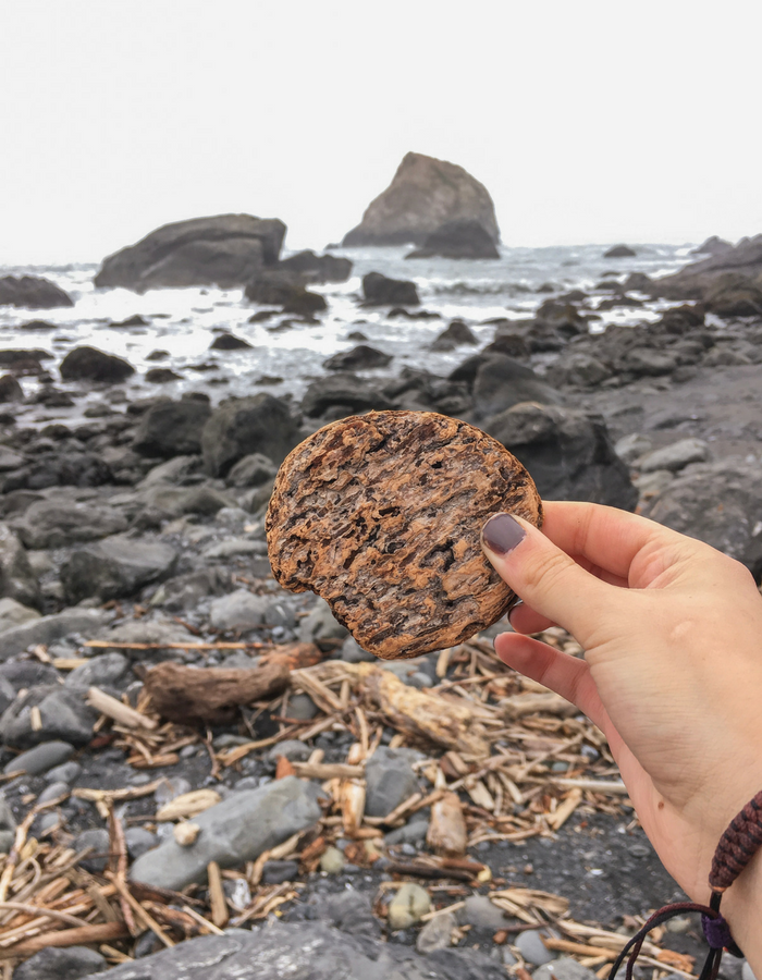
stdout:
{"type": "Polygon", "coordinates": [[[587,646],[601,614],[617,598],[614,586],[586,572],[528,520],[512,514],[490,517],[481,544],[520,599],[587,646]]]}

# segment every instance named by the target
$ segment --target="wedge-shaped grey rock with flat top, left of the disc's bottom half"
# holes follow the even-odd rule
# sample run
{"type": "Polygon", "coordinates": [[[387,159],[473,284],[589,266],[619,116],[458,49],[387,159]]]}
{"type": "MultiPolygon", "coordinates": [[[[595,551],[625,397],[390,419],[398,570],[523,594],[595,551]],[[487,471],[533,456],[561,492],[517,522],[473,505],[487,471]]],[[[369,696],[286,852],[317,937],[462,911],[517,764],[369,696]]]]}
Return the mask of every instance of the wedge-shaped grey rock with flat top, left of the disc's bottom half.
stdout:
{"type": "Polygon", "coordinates": [[[172,574],[177,552],[169,544],[153,544],[114,535],[86,544],[61,566],[61,581],[72,602],[90,596],[121,599],[143,586],[172,574]]]}

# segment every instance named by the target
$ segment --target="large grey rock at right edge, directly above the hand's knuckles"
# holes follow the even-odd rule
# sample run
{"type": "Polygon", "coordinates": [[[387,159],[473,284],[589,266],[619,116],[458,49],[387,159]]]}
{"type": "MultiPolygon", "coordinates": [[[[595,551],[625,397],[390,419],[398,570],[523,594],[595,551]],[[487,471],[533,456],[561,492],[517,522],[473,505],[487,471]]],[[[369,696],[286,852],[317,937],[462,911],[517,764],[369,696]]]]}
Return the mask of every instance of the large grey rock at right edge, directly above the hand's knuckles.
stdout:
{"type": "MultiPolygon", "coordinates": [[[[759,463],[695,464],[654,497],[643,514],[666,527],[705,541],[762,573],[762,499],[759,463]],[[717,502],[722,502],[722,507],[717,502]]],[[[2,637],[0,636],[0,641],[2,637]]]]}

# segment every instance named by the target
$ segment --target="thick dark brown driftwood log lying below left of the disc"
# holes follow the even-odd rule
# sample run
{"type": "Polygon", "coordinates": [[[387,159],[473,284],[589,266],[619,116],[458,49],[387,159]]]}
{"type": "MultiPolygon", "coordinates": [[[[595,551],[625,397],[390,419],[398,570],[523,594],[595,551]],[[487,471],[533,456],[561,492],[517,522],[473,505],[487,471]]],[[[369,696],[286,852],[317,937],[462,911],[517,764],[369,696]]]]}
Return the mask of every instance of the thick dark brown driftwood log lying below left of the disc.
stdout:
{"type": "Polygon", "coordinates": [[[226,724],[243,705],[271,698],[288,684],[284,663],[243,670],[188,667],[167,661],[151,667],[145,686],[152,707],[179,724],[226,724]]]}

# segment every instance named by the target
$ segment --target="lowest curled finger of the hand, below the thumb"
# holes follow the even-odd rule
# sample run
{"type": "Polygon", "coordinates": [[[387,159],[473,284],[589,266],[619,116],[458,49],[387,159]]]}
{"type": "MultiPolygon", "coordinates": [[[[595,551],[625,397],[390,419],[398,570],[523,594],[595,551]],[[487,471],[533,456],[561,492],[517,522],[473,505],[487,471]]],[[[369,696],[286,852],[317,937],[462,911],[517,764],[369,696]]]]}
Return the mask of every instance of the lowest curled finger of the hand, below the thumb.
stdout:
{"type": "Polygon", "coordinates": [[[583,660],[516,633],[501,633],[494,646],[503,663],[576,705],[609,737],[613,726],[583,660]]]}

